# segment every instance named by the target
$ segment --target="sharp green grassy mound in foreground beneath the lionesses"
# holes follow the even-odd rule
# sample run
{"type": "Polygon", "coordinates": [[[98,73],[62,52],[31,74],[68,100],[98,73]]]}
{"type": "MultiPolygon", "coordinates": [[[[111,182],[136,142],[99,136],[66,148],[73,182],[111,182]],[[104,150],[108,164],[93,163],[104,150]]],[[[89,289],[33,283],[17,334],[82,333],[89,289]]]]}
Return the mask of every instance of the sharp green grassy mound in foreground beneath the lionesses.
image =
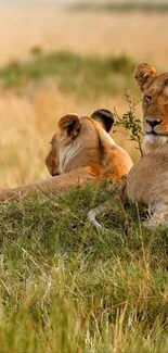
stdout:
{"type": "Polygon", "coordinates": [[[1,352],[168,352],[167,231],[112,198],[98,234],[87,212],[107,190],[0,205],[1,352]]]}

